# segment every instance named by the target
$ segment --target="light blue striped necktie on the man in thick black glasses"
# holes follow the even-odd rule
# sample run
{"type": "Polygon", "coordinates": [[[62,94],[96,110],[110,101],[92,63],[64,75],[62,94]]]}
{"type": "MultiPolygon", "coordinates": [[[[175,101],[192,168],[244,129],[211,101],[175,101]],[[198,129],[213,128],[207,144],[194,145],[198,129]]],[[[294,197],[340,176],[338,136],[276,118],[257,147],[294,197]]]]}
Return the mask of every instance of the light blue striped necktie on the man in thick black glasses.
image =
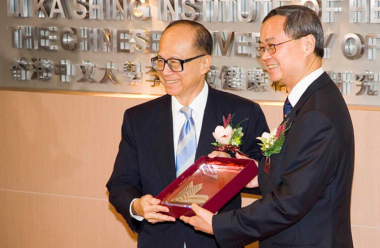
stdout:
{"type": "Polygon", "coordinates": [[[182,126],[177,146],[176,174],[180,176],[194,163],[196,152],[195,124],[192,120],[189,107],[183,107],[180,112],[185,115],[186,121],[182,126]]]}

